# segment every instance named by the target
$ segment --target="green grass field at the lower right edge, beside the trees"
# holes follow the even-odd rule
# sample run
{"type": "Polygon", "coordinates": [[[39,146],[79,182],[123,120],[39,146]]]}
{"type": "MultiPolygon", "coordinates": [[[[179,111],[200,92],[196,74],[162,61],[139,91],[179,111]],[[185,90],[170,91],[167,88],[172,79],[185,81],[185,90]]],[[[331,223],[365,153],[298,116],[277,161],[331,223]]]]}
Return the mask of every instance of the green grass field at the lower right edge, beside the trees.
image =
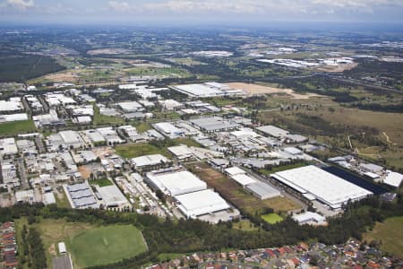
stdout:
{"type": "Polygon", "coordinates": [[[372,240],[381,241],[381,249],[385,252],[403,258],[403,216],[377,222],[373,230],[364,234],[369,243],[372,240]]]}

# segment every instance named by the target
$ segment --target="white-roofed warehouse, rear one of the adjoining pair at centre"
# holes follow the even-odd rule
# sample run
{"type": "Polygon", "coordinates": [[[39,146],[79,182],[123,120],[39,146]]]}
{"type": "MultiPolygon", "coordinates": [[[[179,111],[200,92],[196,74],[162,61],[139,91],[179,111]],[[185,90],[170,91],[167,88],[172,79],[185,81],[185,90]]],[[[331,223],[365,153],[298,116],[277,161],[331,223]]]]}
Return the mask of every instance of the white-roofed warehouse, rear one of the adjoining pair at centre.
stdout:
{"type": "Polygon", "coordinates": [[[162,169],[149,172],[146,180],[153,189],[159,189],[169,196],[184,195],[207,188],[204,181],[183,169],[162,169]]]}

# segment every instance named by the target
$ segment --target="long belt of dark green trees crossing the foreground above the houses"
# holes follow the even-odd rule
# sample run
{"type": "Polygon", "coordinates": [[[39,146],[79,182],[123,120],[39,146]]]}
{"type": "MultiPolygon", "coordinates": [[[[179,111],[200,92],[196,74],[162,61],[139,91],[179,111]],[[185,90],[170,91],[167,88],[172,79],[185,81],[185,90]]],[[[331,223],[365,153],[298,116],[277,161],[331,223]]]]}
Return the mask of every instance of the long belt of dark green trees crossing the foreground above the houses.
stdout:
{"type": "MultiPolygon", "coordinates": [[[[124,259],[114,265],[94,268],[133,268],[148,262],[156,262],[160,253],[186,253],[193,251],[219,251],[227,247],[259,248],[292,245],[308,239],[317,239],[325,244],[344,243],[350,237],[362,238],[367,227],[375,221],[383,221],[390,216],[403,215],[402,197],[398,203],[382,202],[377,197],[369,197],[346,205],[346,212],[339,218],[329,220],[327,227],[299,226],[288,217],[285,221],[270,225],[256,223],[259,230],[244,231],[231,229],[227,223],[212,225],[198,220],[161,221],[148,214],[117,213],[100,210],[72,210],[57,208],[56,205],[43,207],[42,204],[20,204],[13,208],[1,208],[0,220],[8,221],[21,216],[42,216],[43,218],[62,219],[73,222],[97,224],[125,223],[139,228],[147,241],[149,250],[140,256],[124,259]]],[[[248,216],[253,221],[253,216],[248,216]]],[[[33,230],[32,240],[37,231],[33,230]]],[[[35,236],[35,237],[34,237],[35,236]]],[[[34,241],[41,246],[41,243],[34,241]]],[[[30,243],[31,245],[31,243],[30,243]]],[[[39,256],[39,251],[36,252],[39,256]]],[[[38,264],[40,262],[38,261],[38,264]]],[[[37,263],[37,262],[36,262],[37,263]]]]}

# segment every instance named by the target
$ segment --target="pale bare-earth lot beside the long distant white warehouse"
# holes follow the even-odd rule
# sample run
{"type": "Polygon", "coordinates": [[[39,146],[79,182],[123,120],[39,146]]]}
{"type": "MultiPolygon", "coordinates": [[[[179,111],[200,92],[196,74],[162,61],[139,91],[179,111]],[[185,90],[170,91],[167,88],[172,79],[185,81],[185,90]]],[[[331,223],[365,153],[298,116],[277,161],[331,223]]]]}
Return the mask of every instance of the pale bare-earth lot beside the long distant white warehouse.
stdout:
{"type": "Polygon", "coordinates": [[[290,95],[292,99],[309,99],[311,97],[320,97],[321,95],[307,93],[307,94],[299,94],[291,89],[281,89],[269,86],[262,86],[258,84],[249,84],[243,82],[234,82],[234,83],[227,83],[227,85],[232,89],[241,89],[249,94],[270,94],[270,93],[286,93],[290,95]]]}

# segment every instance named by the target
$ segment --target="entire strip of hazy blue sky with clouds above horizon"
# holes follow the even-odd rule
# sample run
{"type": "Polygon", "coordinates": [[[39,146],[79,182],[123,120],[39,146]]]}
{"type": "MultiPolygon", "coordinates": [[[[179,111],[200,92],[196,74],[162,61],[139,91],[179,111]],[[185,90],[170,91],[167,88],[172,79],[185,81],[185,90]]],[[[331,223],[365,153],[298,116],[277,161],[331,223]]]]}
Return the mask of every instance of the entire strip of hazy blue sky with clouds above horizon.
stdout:
{"type": "Polygon", "coordinates": [[[403,22],[403,0],[0,0],[3,22],[403,22]]]}

